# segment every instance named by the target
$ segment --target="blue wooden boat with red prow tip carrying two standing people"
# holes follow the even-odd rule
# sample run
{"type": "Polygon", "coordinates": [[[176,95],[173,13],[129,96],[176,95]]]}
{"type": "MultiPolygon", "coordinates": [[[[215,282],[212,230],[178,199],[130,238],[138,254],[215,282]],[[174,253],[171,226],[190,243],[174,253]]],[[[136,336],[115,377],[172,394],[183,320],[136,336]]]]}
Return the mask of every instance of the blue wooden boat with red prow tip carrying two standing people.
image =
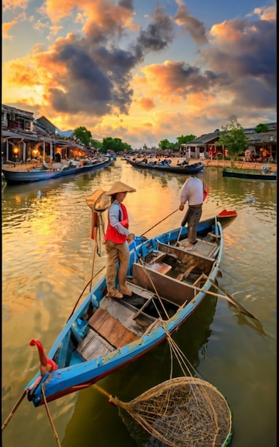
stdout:
{"type": "Polygon", "coordinates": [[[221,222],[227,226],[236,215],[224,210],[220,219],[201,221],[191,251],[184,226],[145,241],[138,236],[130,244],[127,274],[132,296],[106,298],[103,276],[73,311],[48,356],[39,340],[31,340],[40,371],[25,388],[29,401],[40,406],[91,386],[176,331],[210,293],[223,252],[221,222]]]}

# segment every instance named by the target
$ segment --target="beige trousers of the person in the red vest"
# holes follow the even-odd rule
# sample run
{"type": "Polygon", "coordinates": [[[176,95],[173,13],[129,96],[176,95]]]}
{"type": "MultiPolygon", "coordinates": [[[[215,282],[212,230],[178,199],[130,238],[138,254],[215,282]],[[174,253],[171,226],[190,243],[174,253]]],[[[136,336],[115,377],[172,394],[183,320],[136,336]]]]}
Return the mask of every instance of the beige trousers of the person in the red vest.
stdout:
{"type": "Polygon", "coordinates": [[[118,288],[126,287],[126,276],[129,265],[129,246],[128,242],[113,243],[111,241],[105,242],[106,253],[108,254],[106,264],[106,285],[108,293],[116,291],[116,278],[118,281],[118,288]],[[117,263],[119,268],[117,270],[117,263]]]}

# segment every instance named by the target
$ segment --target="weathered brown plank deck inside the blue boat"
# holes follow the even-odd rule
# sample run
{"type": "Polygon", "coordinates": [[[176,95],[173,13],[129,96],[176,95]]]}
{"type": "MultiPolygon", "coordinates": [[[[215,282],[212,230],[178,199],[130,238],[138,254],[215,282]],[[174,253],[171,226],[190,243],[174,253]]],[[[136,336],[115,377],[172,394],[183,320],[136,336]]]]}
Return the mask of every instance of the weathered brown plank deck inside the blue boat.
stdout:
{"type": "Polygon", "coordinates": [[[161,326],[194,298],[193,286],[199,287],[212,269],[219,249],[216,242],[218,236],[208,233],[192,251],[187,250],[188,239],[176,246],[158,243],[148,259],[133,263],[133,278],[127,281],[132,296],[103,298],[88,318],[88,331],[76,351],[92,360],[161,326]]]}

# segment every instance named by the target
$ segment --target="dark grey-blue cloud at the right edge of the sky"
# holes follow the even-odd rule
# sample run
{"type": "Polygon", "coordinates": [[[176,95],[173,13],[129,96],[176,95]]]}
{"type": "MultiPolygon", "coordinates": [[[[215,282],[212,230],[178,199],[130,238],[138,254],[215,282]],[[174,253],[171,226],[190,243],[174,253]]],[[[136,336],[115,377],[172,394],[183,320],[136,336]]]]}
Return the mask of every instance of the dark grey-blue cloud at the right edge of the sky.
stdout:
{"type": "Polygon", "coordinates": [[[258,79],[270,89],[276,83],[276,27],[274,21],[233,20],[211,29],[211,46],[201,51],[213,70],[229,74],[233,84],[258,79]]]}

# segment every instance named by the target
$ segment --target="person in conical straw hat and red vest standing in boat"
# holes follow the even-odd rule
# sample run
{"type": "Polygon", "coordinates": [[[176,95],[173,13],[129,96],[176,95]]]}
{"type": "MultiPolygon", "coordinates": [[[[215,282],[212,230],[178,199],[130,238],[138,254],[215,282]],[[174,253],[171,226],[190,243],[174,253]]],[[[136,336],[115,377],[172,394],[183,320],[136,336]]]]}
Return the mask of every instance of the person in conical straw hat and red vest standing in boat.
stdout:
{"type": "Polygon", "coordinates": [[[134,234],[128,230],[128,213],[122,204],[127,193],[135,192],[121,181],[116,181],[111,189],[106,192],[111,196],[111,205],[108,208],[108,226],[104,236],[106,253],[108,255],[106,265],[107,297],[123,298],[123,295],[131,296],[131,290],[126,286],[126,275],[130,258],[128,243],[133,241],[134,234]],[[119,267],[117,269],[117,263],[119,267]],[[118,290],[116,290],[116,279],[118,290]]]}

